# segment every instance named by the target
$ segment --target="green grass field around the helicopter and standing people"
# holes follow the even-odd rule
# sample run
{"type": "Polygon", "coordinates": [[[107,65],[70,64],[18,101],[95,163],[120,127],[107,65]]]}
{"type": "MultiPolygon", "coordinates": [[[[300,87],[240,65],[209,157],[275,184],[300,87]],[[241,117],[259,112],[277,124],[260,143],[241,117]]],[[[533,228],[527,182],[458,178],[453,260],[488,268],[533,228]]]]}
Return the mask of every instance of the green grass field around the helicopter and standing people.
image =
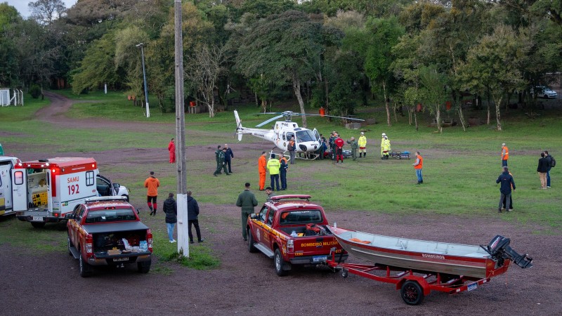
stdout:
{"type": "MultiPolygon", "coordinates": [[[[56,91],[60,92],[60,91],[56,91]]],[[[68,91],[71,98],[72,96],[68,91]]],[[[73,105],[67,117],[72,118],[105,118],[119,121],[138,121],[139,124],[171,124],[174,133],[174,113],[161,114],[156,103],[151,107],[151,117],[146,119],[140,107],[133,107],[122,93],[96,92],[80,96],[82,100],[96,100],[96,103],[79,103],[73,105]]],[[[152,100],[155,100],[154,98],[152,100]]],[[[550,100],[549,100],[550,101],[550,100]]],[[[22,144],[33,148],[55,146],[63,156],[65,152],[91,152],[114,150],[117,148],[159,148],[167,144],[168,133],[145,133],[133,131],[115,131],[100,133],[95,129],[67,129],[64,124],[55,126],[38,121],[34,113],[48,104],[48,100],[32,100],[27,98],[25,107],[0,108],[0,143],[4,150],[10,152],[11,144],[22,144]],[[119,133],[119,137],[116,137],[119,133]],[[69,138],[69,135],[72,137],[69,138]],[[125,141],[123,141],[125,140],[125,141]]],[[[207,114],[186,115],[186,139],[188,146],[235,143],[233,109],[220,112],[213,119],[207,114]]],[[[255,126],[269,117],[257,115],[254,105],[238,107],[244,126],[255,126]]],[[[273,108],[287,110],[287,108],[273,108]]],[[[297,110],[296,107],[292,110],[297,110]]],[[[359,109],[358,117],[372,117],[367,109],[359,109]]],[[[497,216],[497,199],[499,186],[495,180],[501,171],[500,147],[507,143],[510,150],[509,166],[514,174],[517,190],[514,193],[516,211],[502,215],[504,220],[531,225],[537,233],[559,231],[562,228],[560,211],[562,195],[558,183],[562,177],[558,166],[551,171],[553,187],[551,190],[540,190],[540,181],[536,173],[537,160],[540,152],[549,150],[554,157],[562,157],[562,118],[561,110],[539,111],[537,119],[528,119],[522,110],[510,110],[502,113],[504,131],[498,132],[494,126],[473,126],[466,131],[461,126],[444,129],[443,133],[434,133],[434,129],[426,126],[431,121],[428,114],[420,114],[419,131],[408,124],[407,117],[398,117],[393,125],[384,123],[367,126],[367,139],[378,144],[381,133],[386,133],[392,142],[393,150],[407,150],[412,153],[419,150],[424,156],[424,185],[415,185],[416,178],[412,168],[413,160],[389,160],[381,162],[378,145],[367,147],[367,162],[346,160],[342,166],[334,166],[330,162],[299,161],[289,169],[287,193],[311,193],[315,202],[327,211],[367,211],[374,214],[389,213],[400,216],[417,213],[427,216],[460,216],[462,218],[497,216]]],[[[384,112],[374,112],[377,121],[384,119],[384,112]]],[[[484,117],[485,111],[467,111],[466,117],[484,117]]],[[[296,120],[301,123],[299,119],[296,120]]],[[[315,127],[326,137],[332,130],[339,131],[342,138],[358,136],[358,131],[346,130],[336,122],[329,122],[320,117],[309,117],[308,127],[315,127]]],[[[172,136],[173,137],[173,136],[172,136]]],[[[257,181],[256,159],[261,150],[271,146],[257,138],[244,136],[242,143],[256,143],[255,158],[246,159],[246,164],[238,167],[235,178],[221,178],[220,190],[217,190],[216,178],[209,171],[214,169],[214,162],[205,159],[188,162],[188,186],[194,192],[200,192],[197,200],[200,203],[233,204],[240,192],[240,179],[257,181]],[[204,172],[202,172],[204,171],[204,172]],[[206,172],[209,171],[209,172],[206,172]],[[193,176],[195,174],[195,176],[193,176]],[[196,178],[195,178],[196,177],[196,178]]],[[[346,146],[348,147],[348,146],[346,146]]],[[[189,149],[188,149],[189,150],[189,149]]],[[[38,150],[39,152],[39,150],[38,150]]],[[[17,156],[17,153],[12,153],[17,156]]],[[[235,152],[236,154],[236,152],[235,152]]],[[[562,159],[562,158],[561,158],[562,159]]],[[[166,166],[167,162],[162,162],[166,166]]],[[[112,166],[105,171],[111,173],[112,166]]],[[[121,182],[128,187],[142,187],[145,170],[129,170],[131,176],[121,182]]],[[[160,178],[162,192],[173,192],[176,178],[165,176],[160,178]]],[[[142,189],[139,189],[142,190],[142,189]]],[[[141,192],[137,190],[136,193],[141,192]]],[[[0,222],[0,243],[15,242],[16,245],[34,244],[34,240],[47,238],[49,251],[63,246],[56,230],[21,231],[13,221],[0,222]],[[51,237],[49,237],[51,236],[51,237]]],[[[162,228],[164,232],[164,228],[162,228]]],[[[164,233],[165,235],[165,233],[164,233]]],[[[164,238],[164,237],[163,237],[164,238]]],[[[165,239],[163,239],[165,240],[165,239]]],[[[157,256],[171,260],[174,258],[175,246],[159,249],[157,256]]],[[[195,266],[214,266],[218,263],[212,258],[212,252],[205,246],[192,253],[194,258],[201,259],[195,266]]],[[[197,260],[199,260],[197,259],[197,260]]]]}

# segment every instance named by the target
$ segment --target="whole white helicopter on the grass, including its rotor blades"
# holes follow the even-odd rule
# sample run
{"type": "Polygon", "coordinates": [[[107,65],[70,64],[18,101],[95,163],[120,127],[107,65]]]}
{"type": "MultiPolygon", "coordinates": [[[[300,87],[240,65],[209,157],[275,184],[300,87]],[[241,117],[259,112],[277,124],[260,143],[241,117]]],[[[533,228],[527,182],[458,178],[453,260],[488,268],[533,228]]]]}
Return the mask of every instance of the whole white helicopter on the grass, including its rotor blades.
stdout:
{"type": "MultiPolygon", "coordinates": [[[[318,154],[318,149],[320,149],[320,133],[316,129],[312,131],[310,129],[305,129],[299,127],[294,121],[291,120],[293,116],[323,116],[323,117],[336,117],[333,115],[322,115],[322,114],[303,114],[292,111],[285,112],[265,112],[259,114],[277,114],[276,117],[268,119],[256,125],[256,127],[261,127],[275,121],[276,119],[285,118],[285,121],[276,121],[273,125],[273,129],[253,129],[242,126],[242,121],[238,116],[238,112],[234,110],[234,117],[236,119],[236,131],[238,135],[238,141],[242,140],[244,134],[249,134],[251,136],[256,136],[264,140],[269,140],[277,148],[283,152],[287,151],[287,146],[289,145],[289,140],[294,137],[295,140],[295,152],[298,154],[299,159],[314,160],[317,159],[320,154],[318,154]]],[[[354,121],[364,121],[363,119],[354,119],[351,117],[336,117],[340,119],[351,119],[354,121]]],[[[275,149],[275,147],[274,147],[275,149]]],[[[273,150],[272,150],[273,152],[273,150]]]]}

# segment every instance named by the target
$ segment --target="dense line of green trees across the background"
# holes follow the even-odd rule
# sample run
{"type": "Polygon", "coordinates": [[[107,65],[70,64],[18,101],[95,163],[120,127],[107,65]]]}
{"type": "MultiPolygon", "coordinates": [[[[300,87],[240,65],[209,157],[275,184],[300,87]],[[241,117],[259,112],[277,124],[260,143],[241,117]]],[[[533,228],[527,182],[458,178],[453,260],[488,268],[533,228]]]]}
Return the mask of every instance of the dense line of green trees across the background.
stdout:
{"type": "MultiPolygon", "coordinates": [[[[29,6],[24,19],[0,3],[0,86],[107,84],[142,99],[143,43],[148,90],[174,111],[174,1],[29,6]]],[[[501,131],[511,97],[530,106],[559,72],[561,12],[561,0],[183,1],[185,92],[211,117],[240,87],[264,111],[287,96],[342,116],[376,101],[388,126],[398,107],[417,121],[423,104],[438,129],[445,106],[465,126],[462,104],[476,96],[501,131]]]]}

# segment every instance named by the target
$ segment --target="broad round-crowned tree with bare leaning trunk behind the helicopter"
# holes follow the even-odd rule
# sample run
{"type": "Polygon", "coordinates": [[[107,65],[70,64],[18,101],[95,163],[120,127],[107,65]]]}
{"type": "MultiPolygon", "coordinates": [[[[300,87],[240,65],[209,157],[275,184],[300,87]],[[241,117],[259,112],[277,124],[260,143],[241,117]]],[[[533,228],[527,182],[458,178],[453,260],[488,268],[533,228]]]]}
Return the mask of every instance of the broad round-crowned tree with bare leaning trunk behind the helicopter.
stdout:
{"type": "MultiPolygon", "coordinates": [[[[289,81],[305,113],[301,83],[314,77],[322,53],[323,28],[299,11],[259,20],[242,38],[235,68],[246,77],[263,76],[271,83],[289,81]]],[[[306,116],[302,116],[306,127],[306,116]]]]}

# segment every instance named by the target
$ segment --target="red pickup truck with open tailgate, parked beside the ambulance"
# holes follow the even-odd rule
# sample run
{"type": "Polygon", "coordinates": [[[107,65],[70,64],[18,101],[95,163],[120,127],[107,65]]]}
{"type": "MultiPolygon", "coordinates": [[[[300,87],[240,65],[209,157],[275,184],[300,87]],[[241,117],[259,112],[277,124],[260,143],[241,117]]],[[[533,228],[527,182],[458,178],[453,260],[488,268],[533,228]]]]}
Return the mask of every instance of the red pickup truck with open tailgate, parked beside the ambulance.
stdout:
{"type": "Polygon", "coordinates": [[[136,263],[139,272],[150,270],[152,232],[125,197],[86,199],[65,218],[68,253],[79,260],[81,277],[89,277],[93,265],[136,263]]]}

